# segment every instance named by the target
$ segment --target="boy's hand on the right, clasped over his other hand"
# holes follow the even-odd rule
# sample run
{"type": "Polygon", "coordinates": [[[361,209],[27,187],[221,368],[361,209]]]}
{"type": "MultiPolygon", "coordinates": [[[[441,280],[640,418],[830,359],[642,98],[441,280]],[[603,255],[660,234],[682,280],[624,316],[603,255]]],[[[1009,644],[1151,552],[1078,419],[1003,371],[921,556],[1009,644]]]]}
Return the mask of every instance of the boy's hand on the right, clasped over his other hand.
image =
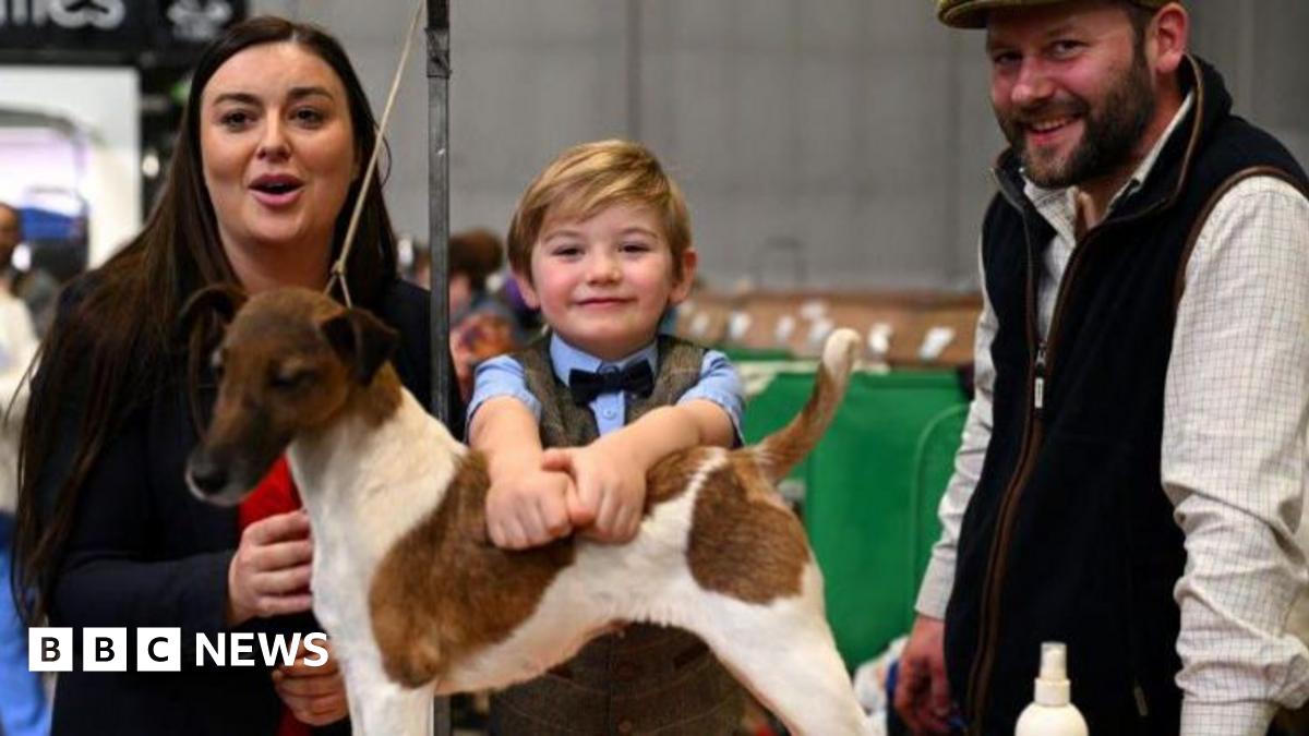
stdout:
{"type": "Polygon", "coordinates": [[[630,542],[645,509],[645,466],[607,452],[603,440],[584,448],[551,448],[541,458],[546,470],[572,477],[568,498],[572,525],[600,542],[630,542]]]}

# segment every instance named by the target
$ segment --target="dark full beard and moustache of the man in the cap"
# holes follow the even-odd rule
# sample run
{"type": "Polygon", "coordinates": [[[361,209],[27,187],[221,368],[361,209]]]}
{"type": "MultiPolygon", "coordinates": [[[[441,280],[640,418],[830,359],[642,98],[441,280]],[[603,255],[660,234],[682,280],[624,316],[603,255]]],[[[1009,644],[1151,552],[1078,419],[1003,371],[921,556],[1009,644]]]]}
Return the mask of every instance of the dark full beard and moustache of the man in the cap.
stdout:
{"type": "Polygon", "coordinates": [[[1024,174],[1037,186],[1064,189],[1113,174],[1132,160],[1132,152],[1155,113],[1155,89],[1144,55],[1132,55],[1131,67],[1105,94],[1100,110],[1085,98],[1047,102],[1013,115],[996,111],[1004,136],[1022,161],[1024,174]],[[1062,162],[1042,160],[1028,149],[1026,124],[1063,115],[1083,120],[1083,136],[1062,162]]]}

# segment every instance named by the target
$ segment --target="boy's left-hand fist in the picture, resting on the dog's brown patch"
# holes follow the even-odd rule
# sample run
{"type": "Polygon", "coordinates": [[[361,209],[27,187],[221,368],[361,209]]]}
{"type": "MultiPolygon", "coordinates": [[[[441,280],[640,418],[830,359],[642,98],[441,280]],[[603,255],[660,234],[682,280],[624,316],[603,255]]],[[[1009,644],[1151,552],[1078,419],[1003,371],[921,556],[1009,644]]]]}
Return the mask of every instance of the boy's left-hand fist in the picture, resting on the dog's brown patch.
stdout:
{"type": "Polygon", "coordinates": [[[564,473],[528,470],[487,491],[487,533],[497,547],[522,550],[572,533],[567,499],[575,495],[564,473]]]}

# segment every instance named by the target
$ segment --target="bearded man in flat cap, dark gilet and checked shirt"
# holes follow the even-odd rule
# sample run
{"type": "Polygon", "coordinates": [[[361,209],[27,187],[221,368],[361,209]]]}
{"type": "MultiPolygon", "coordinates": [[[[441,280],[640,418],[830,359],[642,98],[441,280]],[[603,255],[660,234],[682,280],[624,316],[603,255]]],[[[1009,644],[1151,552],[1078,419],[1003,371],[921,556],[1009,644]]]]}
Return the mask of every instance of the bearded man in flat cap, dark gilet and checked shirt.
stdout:
{"type": "Polygon", "coordinates": [[[1166,0],[937,0],[986,29],[1009,149],[982,228],[978,392],[898,712],[1013,733],[1041,643],[1092,733],[1263,735],[1309,423],[1309,199],[1166,0]]]}

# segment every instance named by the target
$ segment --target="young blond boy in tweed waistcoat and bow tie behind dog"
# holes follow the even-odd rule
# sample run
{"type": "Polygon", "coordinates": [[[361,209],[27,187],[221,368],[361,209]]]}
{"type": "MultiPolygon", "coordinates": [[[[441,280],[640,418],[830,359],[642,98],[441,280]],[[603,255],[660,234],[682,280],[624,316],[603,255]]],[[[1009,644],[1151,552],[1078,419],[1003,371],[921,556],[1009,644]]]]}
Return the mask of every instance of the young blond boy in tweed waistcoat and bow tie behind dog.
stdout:
{"type": "MultiPolygon", "coordinates": [[[[639,144],[563,152],[524,193],[509,263],[547,337],[478,368],[471,445],[487,456],[487,529],[507,549],[573,532],[626,542],[645,473],[740,432],[726,358],[658,334],[695,274],[686,203],[639,144]]],[[[635,572],[634,572],[635,574],[635,572]]],[[[741,689],[695,636],[634,625],[492,698],[491,732],[729,735],[741,689]]]]}

